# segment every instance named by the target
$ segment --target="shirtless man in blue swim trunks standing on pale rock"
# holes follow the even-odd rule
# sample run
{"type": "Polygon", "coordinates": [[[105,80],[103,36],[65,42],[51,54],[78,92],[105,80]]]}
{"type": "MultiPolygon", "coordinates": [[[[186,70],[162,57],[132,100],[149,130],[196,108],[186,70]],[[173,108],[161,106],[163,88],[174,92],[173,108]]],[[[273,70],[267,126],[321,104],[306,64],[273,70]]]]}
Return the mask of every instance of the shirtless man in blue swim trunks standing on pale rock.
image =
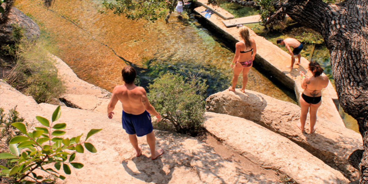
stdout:
{"type": "Polygon", "coordinates": [[[163,150],[156,150],[156,138],[153,133],[151,116],[153,114],[157,120],[161,116],[149,103],[144,88],[134,85],[137,73],[131,66],[126,66],[121,70],[123,85],[115,86],[109,105],[107,106],[107,116],[113,118],[113,110],[120,100],[123,105],[123,116],[121,117],[123,128],[129,134],[129,140],[135,149],[136,156],[142,155],[142,148],[138,146],[138,137],[146,135],[149,149],[151,149],[151,159],[154,160],[162,155],[163,150]]]}

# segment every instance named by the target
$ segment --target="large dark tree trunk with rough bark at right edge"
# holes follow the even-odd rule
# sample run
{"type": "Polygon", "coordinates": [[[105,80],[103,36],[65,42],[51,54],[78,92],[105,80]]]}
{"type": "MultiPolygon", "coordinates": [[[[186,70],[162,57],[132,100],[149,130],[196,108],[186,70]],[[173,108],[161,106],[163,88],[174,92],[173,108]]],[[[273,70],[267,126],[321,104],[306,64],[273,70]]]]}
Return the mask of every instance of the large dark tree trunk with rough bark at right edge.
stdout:
{"type": "Polygon", "coordinates": [[[368,1],[287,0],[284,11],[321,33],[330,50],[340,105],[353,116],[363,138],[360,183],[368,183],[368,1]]]}

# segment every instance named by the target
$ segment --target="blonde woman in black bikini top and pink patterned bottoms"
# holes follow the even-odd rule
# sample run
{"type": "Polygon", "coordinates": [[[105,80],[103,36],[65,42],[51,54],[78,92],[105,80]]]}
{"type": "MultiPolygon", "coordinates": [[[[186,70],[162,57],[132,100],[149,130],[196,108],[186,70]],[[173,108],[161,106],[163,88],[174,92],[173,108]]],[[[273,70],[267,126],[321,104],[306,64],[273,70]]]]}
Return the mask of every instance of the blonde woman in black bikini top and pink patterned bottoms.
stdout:
{"type": "Polygon", "coordinates": [[[243,72],[243,86],[240,91],[244,93],[245,86],[248,82],[248,72],[253,65],[257,48],[254,39],[249,36],[249,30],[247,27],[240,27],[238,33],[240,34],[241,41],[237,42],[235,45],[235,56],[233,62],[230,64],[230,67],[234,69],[234,75],[229,90],[235,91],[239,74],[240,72],[243,72]]]}

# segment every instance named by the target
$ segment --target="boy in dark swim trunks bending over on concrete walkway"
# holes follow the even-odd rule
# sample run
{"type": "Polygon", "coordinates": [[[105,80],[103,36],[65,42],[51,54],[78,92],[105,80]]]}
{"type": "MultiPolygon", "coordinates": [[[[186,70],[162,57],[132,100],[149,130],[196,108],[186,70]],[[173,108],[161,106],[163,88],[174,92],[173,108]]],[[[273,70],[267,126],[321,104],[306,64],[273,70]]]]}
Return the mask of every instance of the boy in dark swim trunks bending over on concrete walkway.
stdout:
{"type": "Polygon", "coordinates": [[[298,56],[298,63],[295,64],[300,64],[301,58],[300,51],[303,49],[303,45],[298,40],[294,38],[285,38],[285,39],[278,38],[276,43],[280,45],[285,45],[286,49],[289,51],[291,55],[291,66],[287,68],[294,68],[295,56],[298,56]],[[293,52],[291,52],[290,47],[294,48],[293,52]]]}

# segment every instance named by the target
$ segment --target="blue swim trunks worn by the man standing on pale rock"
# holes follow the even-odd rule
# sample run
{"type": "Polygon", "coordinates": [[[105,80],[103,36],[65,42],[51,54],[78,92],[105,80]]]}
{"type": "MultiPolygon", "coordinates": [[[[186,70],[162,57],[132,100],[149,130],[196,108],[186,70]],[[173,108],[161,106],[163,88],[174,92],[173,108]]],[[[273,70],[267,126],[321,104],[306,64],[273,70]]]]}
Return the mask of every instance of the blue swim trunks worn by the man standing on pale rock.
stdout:
{"type": "Polygon", "coordinates": [[[147,111],[142,114],[134,115],[128,114],[123,110],[121,122],[125,132],[128,134],[137,134],[138,137],[147,135],[153,130],[151,115],[147,111]]]}

